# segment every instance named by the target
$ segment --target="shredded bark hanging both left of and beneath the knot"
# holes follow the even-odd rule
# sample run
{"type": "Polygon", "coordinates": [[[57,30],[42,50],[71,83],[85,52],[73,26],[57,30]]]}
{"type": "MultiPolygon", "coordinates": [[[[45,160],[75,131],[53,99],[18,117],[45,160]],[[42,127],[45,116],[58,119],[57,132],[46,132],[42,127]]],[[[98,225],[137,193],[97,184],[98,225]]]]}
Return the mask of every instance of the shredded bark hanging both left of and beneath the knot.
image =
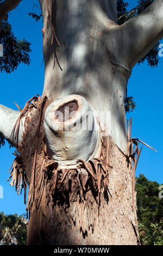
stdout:
{"type": "MultiPolygon", "coordinates": [[[[20,109],[20,116],[18,117],[14,129],[12,131],[12,136],[15,136],[15,139],[18,141],[18,131],[20,129],[20,125],[22,124],[22,118],[24,120],[24,132],[23,132],[23,142],[22,145],[17,144],[17,151],[15,151],[16,159],[12,164],[12,171],[10,178],[11,185],[14,186],[16,190],[19,192],[20,189],[24,189],[24,203],[26,203],[26,188],[27,188],[27,178],[29,179],[29,183],[32,185],[29,186],[28,192],[28,204],[27,204],[27,212],[32,210],[33,205],[36,209],[39,209],[41,198],[45,187],[48,187],[50,183],[51,186],[47,193],[49,193],[55,199],[54,194],[56,196],[57,192],[61,193],[64,200],[65,205],[68,204],[66,202],[65,194],[66,192],[70,192],[73,190],[72,188],[72,177],[76,180],[77,183],[77,191],[74,189],[73,199],[77,197],[77,194],[80,193],[80,197],[82,200],[85,199],[85,194],[87,191],[91,191],[93,197],[98,205],[98,209],[100,206],[100,196],[102,190],[105,191],[105,194],[109,192],[109,170],[112,168],[108,161],[108,140],[103,138],[101,142],[101,152],[99,157],[96,159],[92,159],[89,162],[84,162],[83,160],[79,160],[80,166],[76,169],[59,169],[58,163],[52,160],[46,150],[45,143],[45,134],[43,132],[43,119],[44,112],[49,104],[47,97],[40,98],[39,95],[35,95],[32,99],[28,100],[23,109],[19,106],[16,106],[20,109]],[[35,142],[33,150],[30,149],[30,143],[27,144],[27,139],[30,136],[29,127],[32,126],[31,117],[32,111],[36,109],[36,118],[37,123],[34,123],[35,126],[35,142]],[[31,113],[29,117],[29,113],[31,113]],[[32,155],[32,163],[30,165],[30,176],[29,174],[26,176],[24,173],[24,169],[27,169],[26,163],[23,162],[24,157],[22,155],[26,153],[26,151],[32,155]],[[105,153],[106,152],[106,153],[105,153]],[[32,170],[32,172],[31,172],[32,170]],[[20,183],[21,177],[21,183],[20,183]],[[51,181],[51,182],[49,182],[51,181]]],[[[27,153],[26,153],[27,154],[27,153]]],[[[27,158],[28,155],[26,155],[27,158]]],[[[29,161],[29,160],[28,160],[29,161]]]]}

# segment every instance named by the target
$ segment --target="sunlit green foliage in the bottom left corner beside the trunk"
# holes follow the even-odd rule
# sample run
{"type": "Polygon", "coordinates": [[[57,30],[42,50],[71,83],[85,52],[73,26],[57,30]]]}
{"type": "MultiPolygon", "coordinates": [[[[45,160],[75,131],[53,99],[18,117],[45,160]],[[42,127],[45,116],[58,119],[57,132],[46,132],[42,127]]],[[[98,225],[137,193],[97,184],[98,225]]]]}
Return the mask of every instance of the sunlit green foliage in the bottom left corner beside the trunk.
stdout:
{"type": "Polygon", "coordinates": [[[27,220],[24,215],[0,212],[0,245],[26,245],[27,220]]]}

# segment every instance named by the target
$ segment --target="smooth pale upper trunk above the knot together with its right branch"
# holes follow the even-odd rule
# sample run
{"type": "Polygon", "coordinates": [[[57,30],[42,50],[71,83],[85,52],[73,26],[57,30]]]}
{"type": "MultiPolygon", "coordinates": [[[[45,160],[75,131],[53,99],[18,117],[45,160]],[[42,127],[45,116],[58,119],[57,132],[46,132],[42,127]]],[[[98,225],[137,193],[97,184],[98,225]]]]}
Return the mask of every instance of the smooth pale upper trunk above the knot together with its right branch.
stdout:
{"type": "Polygon", "coordinates": [[[155,1],[122,26],[115,23],[115,1],[55,1],[52,20],[61,47],[52,35],[52,4],[47,8],[46,2],[40,3],[46,31],[43,92],[53,101],[65,95],[83,95],[99,116],[110,114],[109,120],[102,118],[101,128],[126,151],[128,78],[131,68],[162,37],[162,1],[155,1]]]}

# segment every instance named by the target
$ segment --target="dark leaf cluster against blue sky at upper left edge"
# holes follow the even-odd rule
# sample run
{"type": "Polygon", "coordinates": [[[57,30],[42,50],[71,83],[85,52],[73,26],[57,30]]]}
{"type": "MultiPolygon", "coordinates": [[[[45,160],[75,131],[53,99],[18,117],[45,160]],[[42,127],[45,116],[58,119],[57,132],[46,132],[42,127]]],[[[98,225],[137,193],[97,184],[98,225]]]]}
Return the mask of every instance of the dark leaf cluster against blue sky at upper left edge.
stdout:
{"type": "Polygon", "coordinates": [[[3,57],[0,58],[1,72],[11,73],[20,63],[29,65],[30,43],[26,39],[18,40],[8,21],[2,21],[0,44],[3,45],[3,57]]]}

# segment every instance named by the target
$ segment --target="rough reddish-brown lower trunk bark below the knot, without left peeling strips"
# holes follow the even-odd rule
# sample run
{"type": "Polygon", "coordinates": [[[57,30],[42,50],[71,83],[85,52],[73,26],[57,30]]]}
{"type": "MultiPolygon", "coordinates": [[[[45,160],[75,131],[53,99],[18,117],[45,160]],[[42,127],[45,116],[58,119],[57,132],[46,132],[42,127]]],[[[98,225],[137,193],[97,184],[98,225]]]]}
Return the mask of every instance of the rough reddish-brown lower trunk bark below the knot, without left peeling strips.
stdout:
{"type": "Polygon", "coordinates": [[[111,138],[108,139],[108,148],[105,144],[103,150],[109,150],[108,162],[113,168],[104,165],[108,170],[109,184],[108,191],[102,185],[99,204],[97,185],[92,175],[88,174],[89,179],[84,176],[83,180],[87,179],[84,191],[79,169],[61,172],[57,170],[57,165],[51,164],[48,171],[40,174],[41,179],[36,185],[36,189],[39,187],[40,190],[35,193],[30,209],[28,245],[139,243],[135,201],[134,210],[132,208],[133,168],[130,164],[127,167],[126,157],[111,138]],[[60,183],[62,177],[65,179],[60,183]]]}

